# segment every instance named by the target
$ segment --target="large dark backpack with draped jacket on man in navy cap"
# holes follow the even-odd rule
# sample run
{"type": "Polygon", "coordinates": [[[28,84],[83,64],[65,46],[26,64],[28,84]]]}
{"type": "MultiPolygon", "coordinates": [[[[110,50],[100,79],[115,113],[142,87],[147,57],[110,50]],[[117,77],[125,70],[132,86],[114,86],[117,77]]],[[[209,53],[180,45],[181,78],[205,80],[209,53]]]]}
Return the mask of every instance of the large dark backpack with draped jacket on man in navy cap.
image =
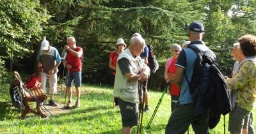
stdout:
{"type": "Polygon", "coordinates": [[[185,73],[192,100],[196,104],[195,115],[200,115],[211,109],[209,128],[214,128],[220,121],[220,115],[231,111],[230,92],[227,82],[211,57],[202,54],[200,50],[189,45],[197,57],[193,68],[191,82],[185,73]]]}

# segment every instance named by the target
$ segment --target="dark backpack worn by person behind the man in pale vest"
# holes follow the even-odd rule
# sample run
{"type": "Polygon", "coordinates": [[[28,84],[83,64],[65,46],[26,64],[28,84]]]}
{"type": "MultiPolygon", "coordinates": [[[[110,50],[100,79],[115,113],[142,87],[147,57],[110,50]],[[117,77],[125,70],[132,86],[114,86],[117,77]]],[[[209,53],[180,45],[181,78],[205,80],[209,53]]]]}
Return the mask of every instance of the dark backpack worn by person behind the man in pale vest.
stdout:
{"type": "Polygon", "coordinates": [[[148,54],[148,67],[153,73],[156,73],[156,71],[159,68],[159,64],[156,60],[156,56],[154,55],[154,48],[152,45],[147,45],[149,54],[148,54]]]}

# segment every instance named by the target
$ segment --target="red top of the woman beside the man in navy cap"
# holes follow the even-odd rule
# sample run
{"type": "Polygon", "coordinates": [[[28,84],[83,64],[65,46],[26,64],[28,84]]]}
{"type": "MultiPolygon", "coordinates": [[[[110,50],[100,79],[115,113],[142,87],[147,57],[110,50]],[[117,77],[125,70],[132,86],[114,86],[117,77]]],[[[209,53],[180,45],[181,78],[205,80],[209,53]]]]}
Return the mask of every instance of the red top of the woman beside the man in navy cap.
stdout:
{"type": "MultiPolygon", "coordinates": [[[[176,61],[177,61],[177,57],[173,57],[172,63],[170,64],[170,66],[168,68],[168,73],[174,73],[175,74],[175,71],[176,71],[175,63],[176,63],[176,61]]],[[[179,94],[180,94],[179,87],[177,87],[176,84],[174,84],[174,83],[172,83],[171,87],[172,87],[171,95],[179,96],[179,94]]]]}

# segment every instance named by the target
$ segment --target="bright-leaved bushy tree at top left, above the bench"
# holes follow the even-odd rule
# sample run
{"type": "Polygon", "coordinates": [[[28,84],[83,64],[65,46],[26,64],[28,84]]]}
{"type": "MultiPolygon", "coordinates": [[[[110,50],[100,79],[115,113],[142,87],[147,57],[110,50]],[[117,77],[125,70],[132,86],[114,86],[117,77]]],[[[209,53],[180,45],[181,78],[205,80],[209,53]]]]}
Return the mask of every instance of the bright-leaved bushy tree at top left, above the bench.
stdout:
{"type": "Polygon", "coordinates": [[[21,64],[17,62],[20,58],[30,56],[48,18],[38,1],[0,1],[1,65],[8,63],[12,71],[13,64],[21,64]]]}

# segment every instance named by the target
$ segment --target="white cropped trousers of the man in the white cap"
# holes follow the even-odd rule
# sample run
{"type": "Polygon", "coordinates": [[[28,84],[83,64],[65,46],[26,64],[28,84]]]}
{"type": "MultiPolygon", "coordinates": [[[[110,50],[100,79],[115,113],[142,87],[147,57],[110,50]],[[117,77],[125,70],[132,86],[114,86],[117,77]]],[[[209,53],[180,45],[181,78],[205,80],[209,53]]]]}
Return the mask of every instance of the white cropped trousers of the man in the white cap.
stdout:
{"type": "Polygon", "coordinates": [[[49,78],[50,94],[56,94],[57,93],[57,73],[47,74],[47,73],[41,72],[41,84],[42,84],[41,88],[44,91],[44,93],[47,93],[46,91],[47,77],[49,78]]]}

